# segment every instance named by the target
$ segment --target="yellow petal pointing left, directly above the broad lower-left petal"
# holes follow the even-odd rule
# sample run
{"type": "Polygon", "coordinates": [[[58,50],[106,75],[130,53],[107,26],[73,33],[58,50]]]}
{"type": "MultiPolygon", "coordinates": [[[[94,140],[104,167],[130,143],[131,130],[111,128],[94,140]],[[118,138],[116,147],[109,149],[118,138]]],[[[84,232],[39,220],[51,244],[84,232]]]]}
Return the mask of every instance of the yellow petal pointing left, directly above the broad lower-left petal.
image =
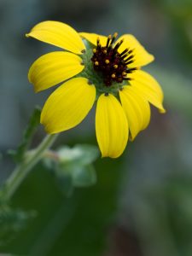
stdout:
{"type": "Polygon", "coordinates": [[[56,51],[38,58],[29,69],[28,79],[38,92],[72,78],[83,69],[78,55],[56,51]]]}

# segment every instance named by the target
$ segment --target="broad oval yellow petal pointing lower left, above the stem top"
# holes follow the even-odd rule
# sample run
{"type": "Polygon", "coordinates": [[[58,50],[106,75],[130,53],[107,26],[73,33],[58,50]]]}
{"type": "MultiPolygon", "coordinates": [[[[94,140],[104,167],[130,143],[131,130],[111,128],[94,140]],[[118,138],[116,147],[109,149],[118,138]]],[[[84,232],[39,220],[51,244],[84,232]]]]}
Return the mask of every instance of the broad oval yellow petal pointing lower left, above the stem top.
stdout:
{"type": "Polygon", "coordinates": [[[41,124],[48,133],[73,128],[85,118],[96,99],[96,88],[88,79],[75,78],[56,89],[44,104],[41,124]]]}

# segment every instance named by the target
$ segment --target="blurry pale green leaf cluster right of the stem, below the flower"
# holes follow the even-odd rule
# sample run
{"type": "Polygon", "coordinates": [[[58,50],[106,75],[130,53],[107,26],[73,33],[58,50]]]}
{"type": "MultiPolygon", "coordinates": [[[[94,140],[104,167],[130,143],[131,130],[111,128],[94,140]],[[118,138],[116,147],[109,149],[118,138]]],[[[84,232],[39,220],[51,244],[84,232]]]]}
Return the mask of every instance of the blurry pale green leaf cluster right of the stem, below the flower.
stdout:
{"type": "Polygon", "coordinates": [[[62,193],[71,196],[74,187],[88,187],[96,183],[96,171],[92,163],[98,155],[96,146],[65,146],[58,151],[48,152],[44,157],[44,166],[54,173],[62,193]]]}

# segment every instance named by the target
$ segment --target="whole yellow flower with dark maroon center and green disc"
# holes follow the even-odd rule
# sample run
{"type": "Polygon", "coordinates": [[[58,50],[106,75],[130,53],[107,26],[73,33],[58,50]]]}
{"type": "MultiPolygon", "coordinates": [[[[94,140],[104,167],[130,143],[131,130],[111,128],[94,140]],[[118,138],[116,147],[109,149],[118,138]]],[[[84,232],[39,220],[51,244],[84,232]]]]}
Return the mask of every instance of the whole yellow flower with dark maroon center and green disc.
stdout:
{"type": "Polygon", "coordinates": [[[36,92],[66,81],[44,104],[41,123],[48,133],[79,125],[97,101],[97,142],[102,157],[116,158],[128,139],[148,126],[149,102],[165,112],[160,85],[140,69],[154,56],[132,35],[116,40],[117,33],[78,33],[67,24],[44,21],[26,36],[62,49],[38,58],[28,73],[36,92]]]}

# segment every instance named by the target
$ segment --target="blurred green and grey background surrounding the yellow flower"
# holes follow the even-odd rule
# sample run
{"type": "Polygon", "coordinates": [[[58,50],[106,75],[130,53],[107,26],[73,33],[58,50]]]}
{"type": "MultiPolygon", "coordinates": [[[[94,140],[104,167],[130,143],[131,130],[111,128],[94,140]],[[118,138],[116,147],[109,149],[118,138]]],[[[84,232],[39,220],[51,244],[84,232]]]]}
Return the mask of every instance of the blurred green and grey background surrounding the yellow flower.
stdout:
{"type": "MultiPolygon", "coordinates": [[[[152,109],[146,131],[118,160],[99,159],[97,183],[63,196],[43,164],[26,178],[14,207],[35,211],[26,227],[0,244],[0,253],[35,256],[192,255],[192,1],[1,0],[0,182],[13,169],[8,154],[35,105],[27,70],[51,48],[25,38],[43,20],[79,32],[132,33],[155,55],[145,70],[160,82],[167,113],[152,109]]],[[[55,144],[96,144],[94,111],[55,144]],[[80,132],[79,132],[80,131],[80,132]]],[[[40,128],[35,143],[44,137],[40,128]]],[[[1,227],[0,227],[1,229],[1,227]]]]}

